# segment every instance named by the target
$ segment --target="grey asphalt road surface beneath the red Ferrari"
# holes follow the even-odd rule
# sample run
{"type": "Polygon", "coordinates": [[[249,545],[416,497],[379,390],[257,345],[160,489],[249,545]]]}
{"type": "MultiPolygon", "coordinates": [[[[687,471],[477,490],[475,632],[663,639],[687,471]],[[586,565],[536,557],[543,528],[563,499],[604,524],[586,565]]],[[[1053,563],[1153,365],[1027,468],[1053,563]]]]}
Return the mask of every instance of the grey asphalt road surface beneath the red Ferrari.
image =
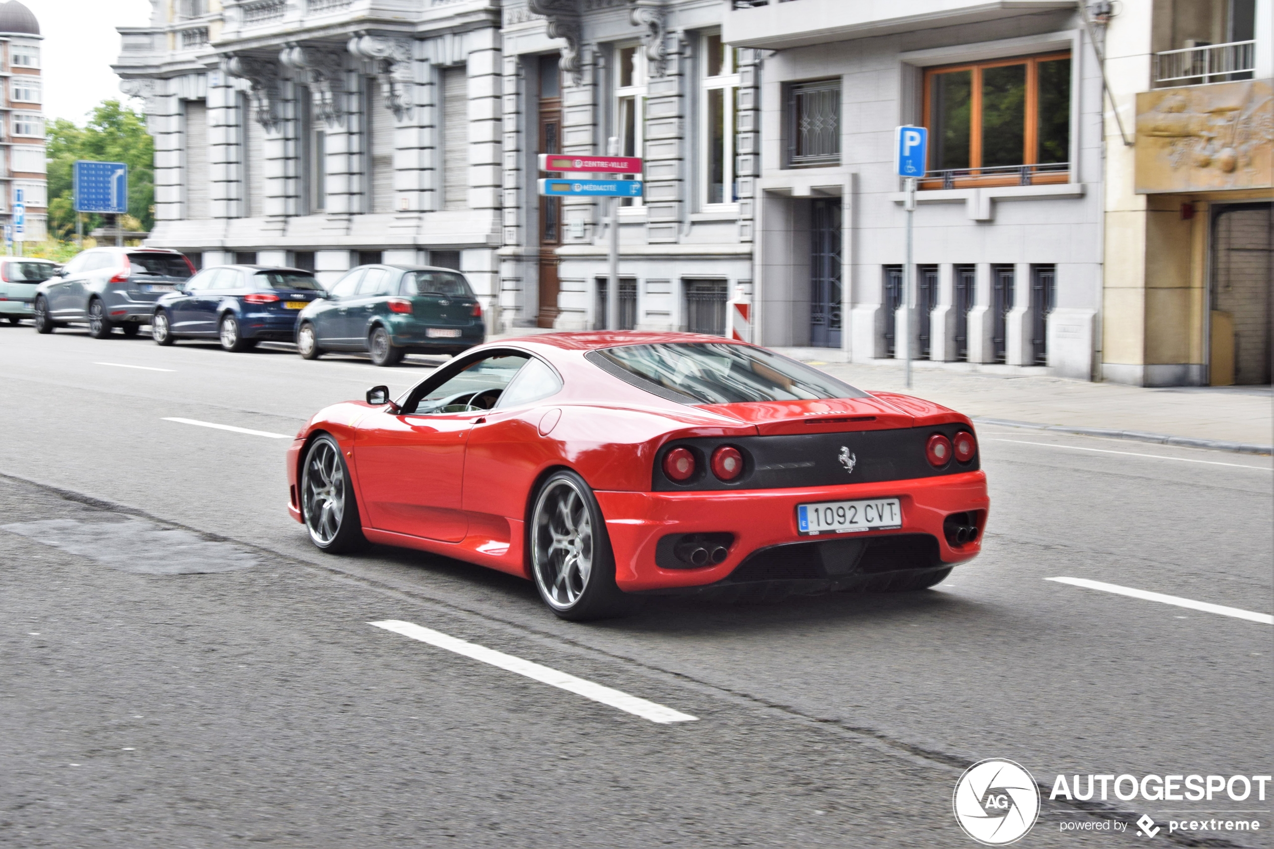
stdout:
{"type": "MultiPolygon", "coordinates": [[[[478,566],[318,552],[287,439],[168,420],[290,435],[431,364],[0,326],[0,844],[972,846],[950,798],[984,757],[1046,787],[1270,773],[1274,628],[1047,580],[1271,612],[1269,458],[982,429],[985,550],[934,591],[577,625],[478,566]]],[[[1210,845],[1266,845],[1274,803],[1213,804],[1046,802],[1020,845],[1144,845],[1060,826],[1180,810],[1256,811],[1210,845]]]]}

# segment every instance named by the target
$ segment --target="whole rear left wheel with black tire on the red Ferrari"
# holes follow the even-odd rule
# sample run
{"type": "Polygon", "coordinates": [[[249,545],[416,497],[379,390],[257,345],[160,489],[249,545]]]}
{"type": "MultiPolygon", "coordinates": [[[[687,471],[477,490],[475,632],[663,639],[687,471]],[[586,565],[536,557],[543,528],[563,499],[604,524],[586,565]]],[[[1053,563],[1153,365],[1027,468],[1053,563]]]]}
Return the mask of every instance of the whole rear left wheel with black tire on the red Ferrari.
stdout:
{"type": "Polygon", "coordinates": [[[615,558],[601,508],[573,471],[554,472],[535,494],[527,526],[531,577],[540,598],[572,621],[622,616],[638,600],[615,586],[615,558]]]}

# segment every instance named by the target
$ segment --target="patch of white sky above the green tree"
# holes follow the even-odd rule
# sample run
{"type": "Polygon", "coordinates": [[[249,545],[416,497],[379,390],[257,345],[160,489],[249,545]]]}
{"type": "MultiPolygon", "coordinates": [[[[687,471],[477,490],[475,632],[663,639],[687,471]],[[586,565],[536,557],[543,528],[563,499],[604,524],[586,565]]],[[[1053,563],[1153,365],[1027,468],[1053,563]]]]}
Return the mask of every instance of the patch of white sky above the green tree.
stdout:
{"type": "Polygon", "coordinates": [[[111,62],[120,55],[116,27],[150,23],[150,0],[20,0],[39,19],[45,116],[84,123],[107,98],[124,99],[111,62]]]}

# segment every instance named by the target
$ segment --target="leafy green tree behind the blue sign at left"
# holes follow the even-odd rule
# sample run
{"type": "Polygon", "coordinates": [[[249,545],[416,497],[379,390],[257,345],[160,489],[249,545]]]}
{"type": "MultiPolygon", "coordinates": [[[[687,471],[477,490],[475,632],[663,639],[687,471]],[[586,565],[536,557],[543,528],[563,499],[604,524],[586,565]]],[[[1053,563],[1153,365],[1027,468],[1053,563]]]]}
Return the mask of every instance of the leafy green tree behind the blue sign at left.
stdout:
{"type": "MultiPolygon", "coordinates": [[[[80,127],[66,118],[48,125],[48,233],[68,238],[75,232],[71,171],[76,159],[125,162],[129,164],[129,214],[141,228],[154,227],[154,140],[147,118],[121,106],[102,101],[80,127]]],[[[102,225],[99,215],[85,215],[84,232],[102,225]]]]}

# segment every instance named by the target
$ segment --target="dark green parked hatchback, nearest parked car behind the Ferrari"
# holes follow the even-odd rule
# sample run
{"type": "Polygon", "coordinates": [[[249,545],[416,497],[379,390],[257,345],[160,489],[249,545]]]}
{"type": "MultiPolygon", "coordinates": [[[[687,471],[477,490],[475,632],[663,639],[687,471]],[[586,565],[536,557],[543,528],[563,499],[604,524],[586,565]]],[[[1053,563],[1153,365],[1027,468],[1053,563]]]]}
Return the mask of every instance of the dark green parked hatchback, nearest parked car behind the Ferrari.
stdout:
{"type": "Polygon", "coordinates": [[[394,365],[409,351],[459,354],[487,339],[482,304],[451,269],[361,265],[297,316],[297,353],[367,351],[394,365]]]}

